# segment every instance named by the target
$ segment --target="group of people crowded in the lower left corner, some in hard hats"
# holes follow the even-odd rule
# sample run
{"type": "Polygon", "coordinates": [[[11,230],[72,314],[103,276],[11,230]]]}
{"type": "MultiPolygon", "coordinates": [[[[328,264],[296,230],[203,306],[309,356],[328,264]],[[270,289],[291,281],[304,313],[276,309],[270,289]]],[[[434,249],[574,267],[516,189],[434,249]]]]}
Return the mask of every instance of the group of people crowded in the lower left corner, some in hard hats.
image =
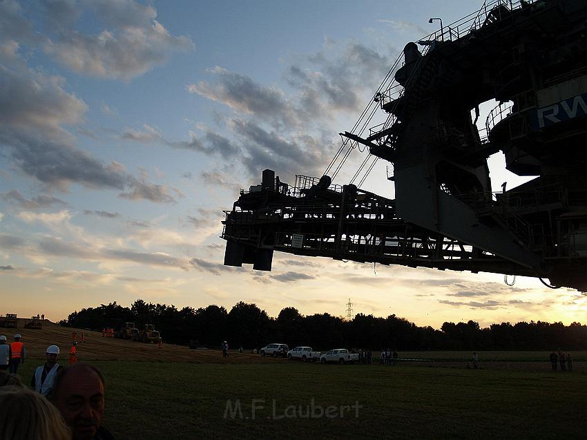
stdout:
{"type": "MultiPolygon", "coordinates": [[[[0,341],[6,341],[6,337],[0,337],[0,341]]],[[[0,347],[5,345],[3,342],[0,347]]],[[[24,348],[17,345],[16,350],[19,347],[24,348]]],[[[4,352],[0,350],[2,356],[4,352]]],[[[114,438],[102,427],[105,394],[102,372],[83,363],[64,367],[59,365],[58,358],[59,347],[49,345],[46,362],[32,374],[32,390],[23,387],[16,371],[6,372],[0,365],[0,439],[114,438]]],[[[4,356],[0,361],[3,359],[4,356]]]]}

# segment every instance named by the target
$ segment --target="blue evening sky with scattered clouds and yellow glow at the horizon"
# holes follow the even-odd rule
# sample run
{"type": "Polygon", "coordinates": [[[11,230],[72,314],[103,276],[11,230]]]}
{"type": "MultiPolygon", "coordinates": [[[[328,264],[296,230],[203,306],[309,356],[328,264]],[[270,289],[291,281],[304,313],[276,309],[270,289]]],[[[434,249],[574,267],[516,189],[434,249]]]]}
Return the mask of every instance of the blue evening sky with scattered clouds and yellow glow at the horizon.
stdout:
{"type": "MultiPolygon", "coordinates": [[[[0,314],[142,298],[345,316],[350,298],[436,328],[586,323],[587,297],[533,278],[277,253],[271,272],[222,265],[240,189],[265,168],[322,175],[403,46],[481,3],[0,0],[0,314]]],[[[490,169],[495,191],[522,182],[501,153],[490,169]]],[[[385,164],[363,189],[393,197],[385,164]]]]}

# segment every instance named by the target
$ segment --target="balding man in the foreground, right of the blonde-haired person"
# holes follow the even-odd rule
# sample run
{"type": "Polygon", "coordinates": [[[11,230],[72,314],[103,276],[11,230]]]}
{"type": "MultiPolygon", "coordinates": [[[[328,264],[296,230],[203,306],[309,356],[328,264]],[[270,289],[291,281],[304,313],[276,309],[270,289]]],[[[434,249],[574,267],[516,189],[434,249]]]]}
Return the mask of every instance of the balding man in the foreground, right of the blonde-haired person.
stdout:
{"type": "Polygon", "coordinates": [[[78,363],[57,374],[51,401],[71,429],[72,440],[114,439],[102,426],[105,394],[104,376],[92,365],[78,363]]]}

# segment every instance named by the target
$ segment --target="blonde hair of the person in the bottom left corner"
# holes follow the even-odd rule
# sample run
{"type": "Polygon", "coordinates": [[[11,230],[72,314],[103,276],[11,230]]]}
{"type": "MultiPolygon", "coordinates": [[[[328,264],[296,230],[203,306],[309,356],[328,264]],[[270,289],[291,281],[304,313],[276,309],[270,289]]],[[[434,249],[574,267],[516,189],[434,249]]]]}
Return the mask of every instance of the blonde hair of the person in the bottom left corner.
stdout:
{"type": "Polygon", "coordinates": [[[70,440],[61,413],[37,392],[0,387],[0,440],[70,440]]]}

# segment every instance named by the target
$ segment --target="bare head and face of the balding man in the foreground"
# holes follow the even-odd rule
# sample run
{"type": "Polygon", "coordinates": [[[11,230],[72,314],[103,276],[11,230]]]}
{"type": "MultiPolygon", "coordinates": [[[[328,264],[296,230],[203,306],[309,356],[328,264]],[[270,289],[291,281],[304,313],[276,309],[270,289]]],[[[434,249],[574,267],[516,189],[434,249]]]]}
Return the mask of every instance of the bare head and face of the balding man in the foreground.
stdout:
{"type": "Polygon", "coordinates": [[[104,384],[88,368],[67,372],[55,403],[71,428],[73,440],[93,439],[104,417],[104,384]]]}

